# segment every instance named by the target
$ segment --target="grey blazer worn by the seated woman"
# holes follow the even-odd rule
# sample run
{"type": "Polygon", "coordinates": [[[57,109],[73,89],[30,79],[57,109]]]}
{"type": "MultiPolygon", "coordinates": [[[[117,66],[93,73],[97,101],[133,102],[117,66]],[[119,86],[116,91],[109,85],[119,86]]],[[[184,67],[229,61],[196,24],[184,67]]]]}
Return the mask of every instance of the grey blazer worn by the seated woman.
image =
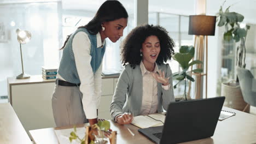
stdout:
{"type": "MultiPolygon", "coordinates": [[[[170,77],[170,88],[166,91],[162,88],[162,83],[158,83],[158,112],[162,112],[162,107],[167,110],[168,104],[174,101],[173,86],[172,86],[172,71],[168,64],[158,65],[158,69],[165,71],[165,77],[170,77]]],[[[132,69],[130,64],[125,66],[122,71],[117,87],[113,95],[112,103],[110,104],[110,114],[112,119],[130,112],[133,116],[138,116],[141,111],[142,104],[142,73],[139,65],[132,69]]]]}

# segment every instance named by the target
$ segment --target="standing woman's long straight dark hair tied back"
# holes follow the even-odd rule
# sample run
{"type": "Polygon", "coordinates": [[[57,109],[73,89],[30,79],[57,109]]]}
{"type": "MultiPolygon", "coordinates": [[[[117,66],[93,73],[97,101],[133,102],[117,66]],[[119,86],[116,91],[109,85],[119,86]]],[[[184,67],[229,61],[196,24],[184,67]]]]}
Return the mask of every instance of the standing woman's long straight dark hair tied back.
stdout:
{"type": "MultiPolygon", "coordinates": [[[[85,26],[80,26],[78,28],[86,28],[90,34],[97,34],[101,31],[102,22],[114,21],[117,19],[125,18],[127,19],[128,14],[123,4],[119,1],[106,1],[98,9],[94,18],[85,26]]],[[[64,45],[61,47],[63,49],[69,39],[71,34],[67,36],[64,45]]]]}

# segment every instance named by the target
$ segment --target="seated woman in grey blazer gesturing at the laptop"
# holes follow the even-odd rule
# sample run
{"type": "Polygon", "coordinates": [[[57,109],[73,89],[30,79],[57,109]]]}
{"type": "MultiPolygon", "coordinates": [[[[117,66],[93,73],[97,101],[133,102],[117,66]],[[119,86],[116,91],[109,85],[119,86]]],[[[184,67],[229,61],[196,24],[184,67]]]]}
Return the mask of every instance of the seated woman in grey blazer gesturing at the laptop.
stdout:
{"type": "Polygon", "coordinates": [[[165,28],[153,25],[138,26],[121,45],[121,73],[110,113],[120,124],[129,124],[133,116],[162,112],[162,107],[174,101],[172,71],[168,64],[174,42],[165,28]]]}

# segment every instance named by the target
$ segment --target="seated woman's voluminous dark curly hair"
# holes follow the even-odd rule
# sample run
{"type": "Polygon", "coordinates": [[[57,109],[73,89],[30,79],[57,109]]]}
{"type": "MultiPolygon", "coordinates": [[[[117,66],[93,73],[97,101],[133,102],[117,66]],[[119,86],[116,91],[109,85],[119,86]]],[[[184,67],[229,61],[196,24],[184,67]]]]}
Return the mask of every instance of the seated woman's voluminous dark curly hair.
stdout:
{"type": "Polygon", "coordinates": [[[123,65],[130,64],[134,69],[136,65],[141,63],[140,50],[142,49],[142,44],[151,35],[158,37],[161,47],[156,63],[162,64],[171,59],[172,54],[174,54],[173,47],[175,44],[166,29],[161,26],[143,25],[132,29],[122,42],[121,61],[123,65]]]}

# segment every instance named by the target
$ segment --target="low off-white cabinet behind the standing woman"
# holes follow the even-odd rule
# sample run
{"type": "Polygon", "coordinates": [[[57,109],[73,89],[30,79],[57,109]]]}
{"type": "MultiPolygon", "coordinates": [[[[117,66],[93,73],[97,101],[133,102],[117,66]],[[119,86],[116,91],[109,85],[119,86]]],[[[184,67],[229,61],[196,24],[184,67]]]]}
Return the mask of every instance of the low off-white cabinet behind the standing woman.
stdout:
{"type": "MultiPolygon", "coordinates": [[[[114,77],[103,77],[102,96],[98,117],[110,119],[109,105],[114,93],[114,77]]],[[[30,79],[17,80],[8,78],[8,98],[25,130],[56,127],[51,97],[55,80],[44,80],[42,75],[31,76],[30,79]]]]}

